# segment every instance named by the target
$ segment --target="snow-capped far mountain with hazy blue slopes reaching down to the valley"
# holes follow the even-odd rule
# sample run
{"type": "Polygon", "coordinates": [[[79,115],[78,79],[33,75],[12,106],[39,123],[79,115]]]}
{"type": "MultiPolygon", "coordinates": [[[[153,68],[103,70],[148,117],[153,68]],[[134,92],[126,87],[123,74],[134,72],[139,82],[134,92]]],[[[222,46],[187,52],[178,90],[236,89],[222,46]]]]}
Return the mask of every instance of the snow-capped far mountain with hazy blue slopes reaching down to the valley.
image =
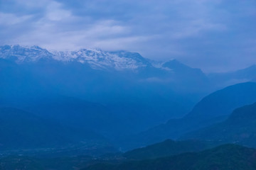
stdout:
{"type": "Polygon", "coordinates": [[[0,79],[0,106],[25,110],[37,106],[40,109],[28,111],[45,111],[47,118],[52,114],[61,123],[76,126],[85,120],[80,128],[99,125],[107,131],[108,127],[122,125],[112,128],[118,130],[112,138],[180,118],[208,91],[207,77],[200,69],[176,60],[154,62],[137,52],[125,51],[52,52],[38,46],[4,45],[0,47],[0,79]],[[190,79],[188,73],[193,73],[190,79]],[[191,89],[190,94],[185,89],[191,89]],[[55,96],[76,99],[69,103],[55,96]],[[51,99],[45,103],[41,98],[51,99]],[[90,110],[90,102],[98,104],[95,110],[90,110]],[[72,118],[72,107],[78,105],[72,118]],[[106,111],[97,110],[98,106],[106,111]],[[97,114],[93,115],[94,111],[97,114]],[[75,116],[80,120],[75,121],[75,116]]]}

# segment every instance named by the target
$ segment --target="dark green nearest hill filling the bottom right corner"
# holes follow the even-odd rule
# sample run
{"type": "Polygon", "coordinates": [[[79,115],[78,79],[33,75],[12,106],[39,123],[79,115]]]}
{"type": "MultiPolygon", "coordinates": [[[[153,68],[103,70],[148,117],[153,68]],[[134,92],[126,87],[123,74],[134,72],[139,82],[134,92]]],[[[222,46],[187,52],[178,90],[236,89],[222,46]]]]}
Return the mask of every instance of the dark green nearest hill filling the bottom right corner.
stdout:
{"type": "Polygon", "coordinates": [[[239,145],[222,145],[202,152],[178,154],[173,157],[124,162],[122,164],[95,164],[84,170],[208,170],[256,169],[256,150],[239,145]]]}

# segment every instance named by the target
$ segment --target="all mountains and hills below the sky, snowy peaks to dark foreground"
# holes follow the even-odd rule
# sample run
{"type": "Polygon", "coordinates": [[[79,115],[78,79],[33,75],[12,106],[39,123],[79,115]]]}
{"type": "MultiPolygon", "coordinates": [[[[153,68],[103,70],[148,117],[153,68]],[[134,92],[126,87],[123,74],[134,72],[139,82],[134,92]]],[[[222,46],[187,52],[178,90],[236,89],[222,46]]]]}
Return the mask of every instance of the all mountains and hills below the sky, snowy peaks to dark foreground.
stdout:
{"type": "Polygon", "coordinates": [[[256,169],[254,65],[3,45],[0,79],[0,169],[256,169]]]}

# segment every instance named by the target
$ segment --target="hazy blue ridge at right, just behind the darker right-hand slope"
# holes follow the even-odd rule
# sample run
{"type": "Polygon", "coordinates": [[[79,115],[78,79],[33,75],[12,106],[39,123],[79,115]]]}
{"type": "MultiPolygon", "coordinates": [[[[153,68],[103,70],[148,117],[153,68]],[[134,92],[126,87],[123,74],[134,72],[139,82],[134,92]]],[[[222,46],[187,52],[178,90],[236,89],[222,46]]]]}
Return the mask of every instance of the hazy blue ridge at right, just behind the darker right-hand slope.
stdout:
{"type": "MultiPolygon", "coordinates": [[[[228,118],[235,108],[256,101],[256,83],[248,82],[228,86],[203,98],[192,111],[181,119],[171,119],[166,124],[141,132],[129,139],[129,148],[141,147],[198,130],[228,118]],[[133,144],[132,144],[133,143],[133,144]]],[[[124,142],[126,145],[126,142],[124,142]]]]}

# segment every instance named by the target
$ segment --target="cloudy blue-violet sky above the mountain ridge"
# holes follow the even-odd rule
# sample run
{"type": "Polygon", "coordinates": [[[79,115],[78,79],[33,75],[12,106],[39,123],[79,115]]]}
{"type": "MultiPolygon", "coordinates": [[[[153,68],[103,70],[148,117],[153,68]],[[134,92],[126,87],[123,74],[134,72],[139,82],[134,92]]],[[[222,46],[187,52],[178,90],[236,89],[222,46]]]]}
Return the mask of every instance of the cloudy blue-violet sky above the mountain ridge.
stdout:
{"type": "Polygon", "coordinates": [[[0,0],[0,45],[128,50],[204,72],[256,64],[255,0],[0,0]]]}

